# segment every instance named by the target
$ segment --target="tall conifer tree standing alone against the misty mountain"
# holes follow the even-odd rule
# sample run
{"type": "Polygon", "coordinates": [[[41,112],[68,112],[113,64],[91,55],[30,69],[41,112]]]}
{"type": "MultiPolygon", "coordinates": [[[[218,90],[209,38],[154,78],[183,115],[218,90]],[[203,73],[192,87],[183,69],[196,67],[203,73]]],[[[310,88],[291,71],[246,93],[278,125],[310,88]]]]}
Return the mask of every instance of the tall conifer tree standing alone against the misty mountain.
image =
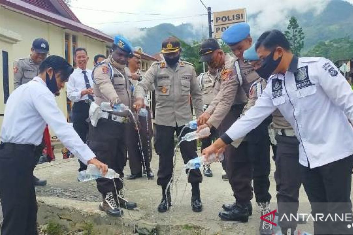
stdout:
{"type": "Polygon", "coordinates": [[[294,16],[289,19],[287,30],[285,31],[286,38],[291,44],[292,52],[296,56],[300,56],[300,51],[304,47],[304,32],[299,26],[297,18],[294,16]]]}

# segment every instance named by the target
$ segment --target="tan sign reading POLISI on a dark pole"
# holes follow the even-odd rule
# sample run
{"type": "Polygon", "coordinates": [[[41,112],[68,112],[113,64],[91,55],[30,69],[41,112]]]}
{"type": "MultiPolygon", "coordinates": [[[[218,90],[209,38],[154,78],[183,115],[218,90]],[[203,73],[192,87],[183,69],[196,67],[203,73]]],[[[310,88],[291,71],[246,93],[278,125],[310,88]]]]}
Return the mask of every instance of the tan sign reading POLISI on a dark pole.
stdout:
{"type": "Polygon", "coordinates": [[[246,9],[220,11],[213,13],[215,38],[221,38],[222,32],[235,23],[246,22],[246,9]]]}

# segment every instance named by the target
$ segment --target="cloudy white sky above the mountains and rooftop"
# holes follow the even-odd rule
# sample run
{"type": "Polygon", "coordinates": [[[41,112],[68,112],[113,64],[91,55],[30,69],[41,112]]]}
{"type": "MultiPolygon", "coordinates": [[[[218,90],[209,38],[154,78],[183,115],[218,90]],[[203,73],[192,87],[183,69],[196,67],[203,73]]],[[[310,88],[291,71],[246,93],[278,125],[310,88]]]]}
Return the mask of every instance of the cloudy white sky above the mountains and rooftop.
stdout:
{"type": "MultiPolygon", "coordinates": [[[[286,25],[291,10],[317,14],[330,0],[203,0],[212,11],[246,8],[256,14],[249,21],[253,30],[270,29],[276,23],[286,25]],[[271,4],[269,4],[271,2],[271,4]]],[[[353,0],[346,0],[353,5],[353,0]]],[[[161,23],[192,23],[207,32],[207,11],[200,0],[72,0],[71,10],[82,21],[106,33],[140,37],[139,28],[161,23]],[[90,10],[88,10],[90,9],[90,10]]]]}

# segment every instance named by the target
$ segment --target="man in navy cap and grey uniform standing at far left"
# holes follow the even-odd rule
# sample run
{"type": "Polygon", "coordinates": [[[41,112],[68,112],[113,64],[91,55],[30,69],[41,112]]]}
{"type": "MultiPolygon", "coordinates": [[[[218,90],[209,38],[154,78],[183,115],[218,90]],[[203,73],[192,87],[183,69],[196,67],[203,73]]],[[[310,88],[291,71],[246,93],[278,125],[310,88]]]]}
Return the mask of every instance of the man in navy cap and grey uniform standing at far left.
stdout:
{"type": "MultiPolygon", "coordinates": [[[[37,38],[32,42],[31,54],[28,57],[20,58],[13,62],[13,81],[16,89],[22,84],[32,80],[39,73],[39,66],[47,57],[49,52],[49,44],[44,38],[37,38]]],[[[49,136],[50,137],[50,136],[49,136]]],[[[37,162],[42,155],[42,150],[45,147],[44,141],[36,147],[37,162]]],[[[47,146],[51,149],[51,146],[47,146]]],[[[33,176],[36,186],[47,185],[47,180],[40,180],[33,176]]]]}

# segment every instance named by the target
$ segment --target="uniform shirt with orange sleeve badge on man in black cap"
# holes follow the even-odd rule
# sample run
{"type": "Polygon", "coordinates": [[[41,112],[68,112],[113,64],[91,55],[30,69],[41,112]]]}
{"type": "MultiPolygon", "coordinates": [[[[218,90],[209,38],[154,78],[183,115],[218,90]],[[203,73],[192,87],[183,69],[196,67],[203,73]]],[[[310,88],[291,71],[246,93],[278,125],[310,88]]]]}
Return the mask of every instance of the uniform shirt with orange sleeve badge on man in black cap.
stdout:
{"type": "Polygon", "coordinates": [[[237,75],[235,61],[230,54],[225,56],[225,66],[220,72],[220,78],[215,84],[216,97],[205,112],[211,114],[207,123],[218,128],[233,105],[246,104],[247,96],[237,75]]]}

